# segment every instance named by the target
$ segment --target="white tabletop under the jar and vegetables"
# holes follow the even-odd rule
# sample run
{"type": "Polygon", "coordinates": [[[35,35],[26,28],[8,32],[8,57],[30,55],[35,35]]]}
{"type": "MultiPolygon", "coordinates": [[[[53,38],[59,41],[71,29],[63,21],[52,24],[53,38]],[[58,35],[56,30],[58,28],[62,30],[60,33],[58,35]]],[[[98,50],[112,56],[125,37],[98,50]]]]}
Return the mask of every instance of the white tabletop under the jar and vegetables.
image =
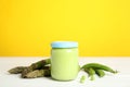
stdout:
{"type": "Polygon", "coordinates": [[[21,65],[29,65],[46,58],[32,57],[12,57],[0,58],[0,87],[130,87],[130,58],[80,58],[80,65],[91,62],[106,64],[115,70],[118,74],[109,74],[103,78],[95,76],[95,80],[86,79],[80,84],[80,77],[87,74],[80,72],[78,77],[72,82],[57,82],[51,78],[40,77],[32,79],[21,78],[21,75],[11,75],[6,71],[21,65]]]}

